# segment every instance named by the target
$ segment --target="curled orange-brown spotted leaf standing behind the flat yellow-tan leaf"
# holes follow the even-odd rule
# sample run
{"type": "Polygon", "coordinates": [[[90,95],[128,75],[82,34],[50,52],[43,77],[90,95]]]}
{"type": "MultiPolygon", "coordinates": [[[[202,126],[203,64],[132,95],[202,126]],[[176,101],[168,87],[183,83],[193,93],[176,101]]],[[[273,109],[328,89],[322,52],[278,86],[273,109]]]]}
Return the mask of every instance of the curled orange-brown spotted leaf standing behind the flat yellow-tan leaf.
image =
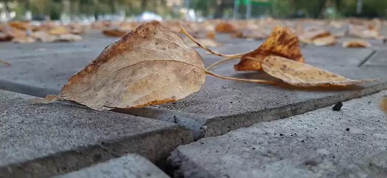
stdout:
{"type": "Polygon", "coordinates": [[[240,62],[234,66],[236,71],[261,70],[261,64],[248,60],[247,57],[263,60],[268,55],[287,57],[298,62],[305,62],[297,36],[288,27],[275,26],[269,37],[256,50],[242,55],[240,62]]]}

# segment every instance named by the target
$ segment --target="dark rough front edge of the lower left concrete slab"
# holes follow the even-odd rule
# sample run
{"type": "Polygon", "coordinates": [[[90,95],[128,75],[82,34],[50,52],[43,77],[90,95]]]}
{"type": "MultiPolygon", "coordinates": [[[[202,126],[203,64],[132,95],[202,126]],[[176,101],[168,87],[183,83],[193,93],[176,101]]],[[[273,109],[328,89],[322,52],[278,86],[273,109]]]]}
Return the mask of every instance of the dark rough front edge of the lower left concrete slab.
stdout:
{"type": "MultiPolygon", "coordinates": [[[[0,91],[3,90],[0,89],[0,91]]],[[[20,93],[15,94],[25,96],[31,99],[35,98],[33,96],[24,95],[20,93]]],[[[74,105],[71,103],[56,103],[74,105]]],[[[89,167],[95,163],[108,161],[110,159],[124,156],[128,153],[139,154],[151,161],[152,163],[156,164],[159,168],[163,170],[171,170],[170,165],[167,163],[167,158],[170,153],[177,146],[181,144],[187,144],[192,141],[192,132],[189,129],[182,127],[181,125],[176,124],[166,128],[160,128],[154,131],[144,132],[140,135],[133,135],[116,140],[109,140],[100,144],[74,147],[72,150],[29,159],[23,162],[4,165],[0,167],[0,177],[41,177],[42,175],[53,176],[59,173],[68,173],[74,170],[89,167]],[[174,137],[173,139],[168,139],[171,138],[172,135],[178,135],[180,138],[174,137]],[[160,141],[160,139],[162,141],[160,141]],[[184,141],[180,143],[180,141],[176,142],[176,139],[184,141]],[[162,145],[159,145],[160,148],[169,150],[161,152],[160,150],[158,150],[157,152],[155,152],[154,147],[148,146],[149,142],[162,143],[162,145]],[[94,158],[94,155],[103,156],[100,160],[94,160],[92,159],[94,158]],[[71,163],[74,160],[77,160],[77,164],[75,164],[75,166],[71,163]],[[59,165],[66,166],[58,167],[59,165]],[[44,172],[34,172],[35,168],[42,170],[42,167],[44,167],[44,172]]]]}

